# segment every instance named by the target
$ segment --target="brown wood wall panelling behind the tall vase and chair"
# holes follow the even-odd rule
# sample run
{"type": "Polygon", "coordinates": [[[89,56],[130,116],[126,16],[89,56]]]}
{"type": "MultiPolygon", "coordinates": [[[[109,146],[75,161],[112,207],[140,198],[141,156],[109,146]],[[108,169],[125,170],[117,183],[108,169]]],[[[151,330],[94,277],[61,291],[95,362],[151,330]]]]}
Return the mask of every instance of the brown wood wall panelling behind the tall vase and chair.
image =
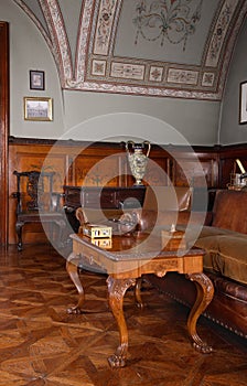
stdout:
{"type": "MultiPolygon", "coordinates": [[[[247,144],[233,147],[152,146],[144,184],[194,186],[200,189],[206,179],[208,189],[225,189],[239,158],[247,169],[247,144]],[[198,162],[200,161],[200,162],[198,162]],[[159,167],[158,167],[159,165],[159,167]]],[[[13,171],[41,169],[54,171],[56,192],[73,186],[132,186],[125,143],[9,139],[9,243],[15,244],[17,190],[13,171]]],[[[42,240],[41,229],[29,229],[24,243],[42,240]]]]}

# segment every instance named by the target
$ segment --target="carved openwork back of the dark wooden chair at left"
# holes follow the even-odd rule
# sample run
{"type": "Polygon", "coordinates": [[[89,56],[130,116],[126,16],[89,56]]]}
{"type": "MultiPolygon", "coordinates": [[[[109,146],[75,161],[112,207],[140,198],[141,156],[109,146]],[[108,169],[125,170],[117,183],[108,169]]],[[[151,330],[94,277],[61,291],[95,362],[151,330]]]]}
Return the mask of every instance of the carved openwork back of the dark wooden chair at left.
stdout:
{"type": "Polygon", "coordinates": [[[18,199],[17,213],[35,211],[54,212],[57,203],[53,195],[53,178],[55,172],[14,171],[17,176],[18,199]]]}

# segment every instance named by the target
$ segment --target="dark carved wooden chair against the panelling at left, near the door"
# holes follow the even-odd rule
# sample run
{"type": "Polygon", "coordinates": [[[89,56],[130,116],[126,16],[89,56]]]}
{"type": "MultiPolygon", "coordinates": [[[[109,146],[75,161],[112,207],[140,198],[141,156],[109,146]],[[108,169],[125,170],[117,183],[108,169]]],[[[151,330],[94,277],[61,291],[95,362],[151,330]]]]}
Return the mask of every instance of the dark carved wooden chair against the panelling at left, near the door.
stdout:
{"type": "Polygon", "coordinates": [[[61,211],[63,194],[53,192],[55,172],[14,171],[17,176],[17,223],[18,250],[22,250],[22,228],[25,224],[55,224],[57,226],[54,240],[61,245],[66,218],[61,211]]]}

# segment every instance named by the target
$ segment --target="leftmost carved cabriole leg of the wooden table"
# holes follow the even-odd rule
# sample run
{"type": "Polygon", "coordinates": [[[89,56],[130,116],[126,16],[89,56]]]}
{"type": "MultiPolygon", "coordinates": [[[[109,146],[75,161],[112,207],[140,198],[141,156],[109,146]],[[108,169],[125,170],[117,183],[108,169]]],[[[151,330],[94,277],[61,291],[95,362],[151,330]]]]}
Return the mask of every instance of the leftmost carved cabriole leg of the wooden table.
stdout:
{"type": "Polygon", "coordinates": [[[67,309],[68,313],[82,313],[82,307],[85,301],[84,289],[78,276],[78,262],[79,255],[72,253],[67,258],[66,270],[78,291],[79,299],[77,305],[67,309]]]}

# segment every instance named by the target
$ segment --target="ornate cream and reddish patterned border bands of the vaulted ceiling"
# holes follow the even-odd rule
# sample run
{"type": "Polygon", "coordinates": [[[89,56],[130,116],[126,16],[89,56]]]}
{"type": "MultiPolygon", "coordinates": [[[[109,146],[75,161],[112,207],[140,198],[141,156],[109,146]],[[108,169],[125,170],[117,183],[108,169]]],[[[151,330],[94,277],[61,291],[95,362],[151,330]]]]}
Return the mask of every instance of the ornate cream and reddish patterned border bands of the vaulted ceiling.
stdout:
{"type": "MultiPolygon", "coordinates": [[[[24,7],[24,0],[14,0],[32,18],[37,28],[39,21],[24,7]]],[[[84,0],[77,31],[76,58],[73,63],[66,34],[66,25],[60,10],[58,0],[39,0],[49,25],[50,39],[45,40],[52,47],[62,87],[65,89],[147,95],[158,97],[179,97],[194,99],[221,100],[232,52],[243,20],[247,12],[246,0],[219,0],[213,18],[200,64],[172,63],[136,58],[128,55],[115,55],[119,21],[126,0],[84,0]]],[[[132,0],[133,1],[133,0],[132,0]]],[[[148,29],[143,22],[147,18],[151,25],[167,22],[167,17],[173,12],[179,29],[170,31],[163,28],[161,40],[170,40],[173,44],[186,42],[195,32],[200,32],[200,19],[203,17],[202,3],[206,0],[191,1],[154,1],[137,0],[139,19],[136,23],[148,29]],[[189,6],[191,3],[191,6],[189,6]],[[149,6],[149,12],[148,10],[149,6]],[[158,14],[158,8],[161,11],[158,14]],[[194,10],[193,7],[194,6],[194,10]],[[170,8],[169,8],[170,7],[170,8]],[[191,7],[191,8],[190,8],[191,7]],[[155,18],[150,12],[155,8],[155,18]],[[191,14],[190,14],[191,11],[191,14]],[[162,18],[163,19],[162,19],[162,18]],[[181,20],[183,19],[183,22],[181,20]],[[180,21],[180,24],[178,24],[180,21]],[[181,36],[179,39],[179,32],[181,36]],[[174,37],[174,33],[176,36],[174,37]],[[176,40],[175,40],[176,39],[176,40]]],[[[205,18],[205,14],[204,14],[205,18]]],[[[147,21],[147,20],[146,20],[147,21]]],[[[148,25],[148,26],[147,26],[148,25]]],[[[77,28],[77,26],[76,26],[77,28]]],[[[174,25],[173,25],[174,28],[174,25]]],[[[172,28],[171,28],[172,29],[172,28]]],[[[171,30],[170,29],[170,30],[171,30]]],[[[146,30],[147,31],[147,30],[146,30]]],[[[44,34],[44,31],[41,32],[44,34]]],[[[143,32],[143,31],[142,31],[143,32]]],[[[153,32],[153,31],[152,31],[153,32]]],[[[153,35],[152,35],[153,37],[153,35]]],[[[150,39],[151,40],[151,39],[150,39]]],[[[154,37],[152,39],[154,41],[154,37]]],[[[181,56],[182,57],[182,56],[181,56]]]]}

